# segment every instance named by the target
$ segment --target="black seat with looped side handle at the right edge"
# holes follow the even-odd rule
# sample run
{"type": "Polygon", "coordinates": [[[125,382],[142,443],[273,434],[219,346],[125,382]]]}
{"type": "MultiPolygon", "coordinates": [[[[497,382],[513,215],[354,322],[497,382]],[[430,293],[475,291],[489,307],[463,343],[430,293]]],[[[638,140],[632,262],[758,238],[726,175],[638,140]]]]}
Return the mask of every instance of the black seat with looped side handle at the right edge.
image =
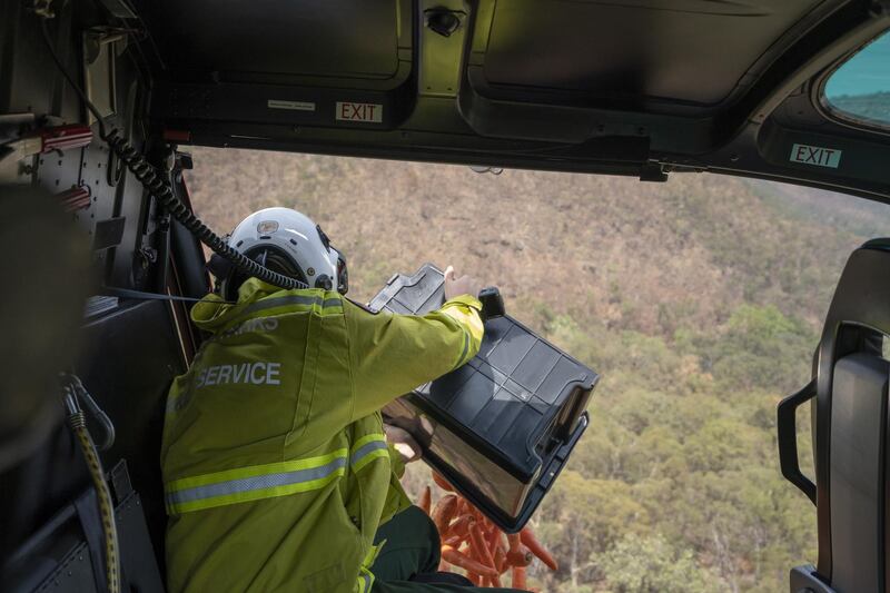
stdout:
{"type": "Polygon", "coordinates": [[[838,283],[813,379],[779,404],[782,474],[817,505],[815,566],[791,571],[791,591],[886,591],[890,239],[853,251],[838,283]],[[794,412],[814,399],[815,484],[798,466],[794,412]]]}

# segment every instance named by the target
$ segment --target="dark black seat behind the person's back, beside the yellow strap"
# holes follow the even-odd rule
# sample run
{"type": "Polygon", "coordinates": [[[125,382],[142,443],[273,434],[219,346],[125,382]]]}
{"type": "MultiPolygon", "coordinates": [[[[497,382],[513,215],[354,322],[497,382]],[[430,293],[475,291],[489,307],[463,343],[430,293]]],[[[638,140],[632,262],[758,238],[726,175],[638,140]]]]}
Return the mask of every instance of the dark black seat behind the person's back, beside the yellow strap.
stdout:
{"type": "MultiPolygon", "coordinates": [[[[116,500],[123,591],[164,591],[159,452],[167,391],[186,368],[171,315],[168,304],[146,300],[89,319],[73,368],[116,428],[101,458],[116,500]]],[[[92,418],[88,426],[96,438],[105,434],[92,418]]],[[[18,527],[19,538],[0,565],[0,590],[106,590],[102,532],[86,468],[71,432],[59,425],[14,474],[0,475],[9,485],[9,492],[0,488],[7,502],[0,524],[18,527]]]]}

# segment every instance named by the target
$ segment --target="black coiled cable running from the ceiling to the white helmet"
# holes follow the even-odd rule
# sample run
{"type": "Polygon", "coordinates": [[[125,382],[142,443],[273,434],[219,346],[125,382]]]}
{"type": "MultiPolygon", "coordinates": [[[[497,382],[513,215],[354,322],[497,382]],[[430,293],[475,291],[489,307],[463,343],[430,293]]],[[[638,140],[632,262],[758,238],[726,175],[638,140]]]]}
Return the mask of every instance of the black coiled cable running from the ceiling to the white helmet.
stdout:
{"type": "Polygon", "coordinates": [[[111,129],[110,132],[107,130],[101,113],[96,106],[92,105],[92,101],[89,100],[89,97],[87,97],[75,79],[71,78],[71,76],[65,69],[65,66],[62,66],[59,56],[56,53],[56,48],[53,48],[52,41],[49,38],[49,31],[47,30],[46,17],[40,19],[40,26],[41,32],[43,33],[43,42],[46,43],[47,49],[52,57],[52,61],[56,62],[56,67],[59,69],[71,88],[75,89],[75,92],[78,93],[80,100],[87,106],[87,109],[89,109],[89,111],[96,118],[96,121],[99,125],[99,138],[108,144],[108,147],[111,149],[111,151],[117,155],[117,157],[136,176],[136,178],[148,190],[148,194],[151,197],[157,199],[167,209],[167,211],[169,211],[174,218],[179,220],[179,223],[186,227],[189,233],[197,237],[199,241],[209,247],[214,253],[231,261],[233,265],[238,270],[246,274],[248,278],[256,277],[265,283],[288,290],[294,288],[309,288],[309,285],[306,283],[301,283],[295,278],[285,276],[284,274],[278,274],[277,271],[270,270],[269,268],[261,266],[259,263],[254,261],[249,257],[234,249],[216,233],[207,228],[207,225],[201,223],[201,220],[195,216],[189,207],[186,206],[176,196],[176,194],[174,194],[174,190],[170,188],[170,186],[164,181],[164,179],[158,175],[151,164],[148,162],[145,156],[142,156],[136,148],[127,142],[127,140],[120,136],[120,132],[117,129],[111,129]]]}

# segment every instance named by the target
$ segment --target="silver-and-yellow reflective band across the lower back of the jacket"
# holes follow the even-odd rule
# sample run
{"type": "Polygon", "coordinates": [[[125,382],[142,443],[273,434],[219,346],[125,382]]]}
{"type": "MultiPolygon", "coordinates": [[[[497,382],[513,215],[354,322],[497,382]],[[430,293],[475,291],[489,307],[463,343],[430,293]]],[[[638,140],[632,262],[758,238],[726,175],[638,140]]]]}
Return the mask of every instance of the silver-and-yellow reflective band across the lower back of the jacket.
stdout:
{"type": "Polygon", "coordinates": [[[319,490],[346,473],[348,452],[186,477],[166,485],[170,515],[319,490]]]}

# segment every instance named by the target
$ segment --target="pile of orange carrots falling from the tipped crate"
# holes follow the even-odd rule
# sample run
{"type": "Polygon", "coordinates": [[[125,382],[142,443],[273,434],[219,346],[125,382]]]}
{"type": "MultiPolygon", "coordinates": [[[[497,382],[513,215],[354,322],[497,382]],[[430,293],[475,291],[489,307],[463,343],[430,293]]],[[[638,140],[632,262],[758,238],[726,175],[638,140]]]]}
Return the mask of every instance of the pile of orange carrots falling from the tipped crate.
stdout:
{"type": "Polygon", "coordinates": [[[432,488],[426,486],[417,506],[436,524],[442,538],[441,571],[448,565],[466,571],[466,577],[477,586],[506,586],[502,577],[510,572],[511,586],[526,589],[525,570],[535,556],[551,570],[558,565],[528,527],[520,533],[505,534],[441,475],[433,473],[435,483],[446,492],[431,512],[432,488]]]}

